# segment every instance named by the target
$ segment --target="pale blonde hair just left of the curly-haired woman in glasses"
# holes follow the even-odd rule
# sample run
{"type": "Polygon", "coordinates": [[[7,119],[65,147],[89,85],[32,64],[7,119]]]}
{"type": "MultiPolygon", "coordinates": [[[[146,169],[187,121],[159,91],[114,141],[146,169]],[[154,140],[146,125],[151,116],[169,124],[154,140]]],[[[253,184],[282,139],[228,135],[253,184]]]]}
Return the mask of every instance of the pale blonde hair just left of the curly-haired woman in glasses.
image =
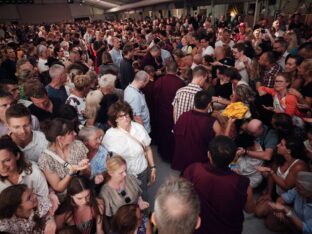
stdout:
{"type": "Polygon", "coordinates": [[[100,90],[90,91],[86,97],[86,109],[85,116],[87,119],[93,119],[96,117],[97,111],[100,109],[100,102],[103,98],[103,94],[100,90]]]}

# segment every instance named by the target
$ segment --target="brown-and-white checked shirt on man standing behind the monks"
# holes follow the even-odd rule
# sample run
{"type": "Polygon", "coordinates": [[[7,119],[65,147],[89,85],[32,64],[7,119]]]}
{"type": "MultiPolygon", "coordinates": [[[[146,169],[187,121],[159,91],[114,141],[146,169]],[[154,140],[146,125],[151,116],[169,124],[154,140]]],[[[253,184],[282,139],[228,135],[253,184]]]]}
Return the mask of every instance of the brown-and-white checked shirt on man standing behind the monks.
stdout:
{"type": "Polygon", "coordinates": [[[175,123],[184,112],[194,109],[195,94],[201,90],[202,88],[199,85],[190,83],[176,92],[172,102],[173,109],[175,110],[175,123]]]}

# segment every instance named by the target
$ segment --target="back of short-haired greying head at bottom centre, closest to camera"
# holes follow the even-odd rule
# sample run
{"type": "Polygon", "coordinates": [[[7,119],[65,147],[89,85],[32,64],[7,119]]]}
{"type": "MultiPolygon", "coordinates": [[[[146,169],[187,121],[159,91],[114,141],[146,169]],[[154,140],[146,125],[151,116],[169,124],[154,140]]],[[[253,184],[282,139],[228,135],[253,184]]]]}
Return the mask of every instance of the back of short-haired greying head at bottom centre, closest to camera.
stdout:
{"type": "Polygon", "coordinates": [[[193,185],[186,179],[171,177],[158,189],[155,218],[159,233],[193,233],[200,212],[200,201],[193,185]],[[177,201],[172,207],[170,201],[177,201]],[[177,210],[179,209],[179,210],[177,210]]]}

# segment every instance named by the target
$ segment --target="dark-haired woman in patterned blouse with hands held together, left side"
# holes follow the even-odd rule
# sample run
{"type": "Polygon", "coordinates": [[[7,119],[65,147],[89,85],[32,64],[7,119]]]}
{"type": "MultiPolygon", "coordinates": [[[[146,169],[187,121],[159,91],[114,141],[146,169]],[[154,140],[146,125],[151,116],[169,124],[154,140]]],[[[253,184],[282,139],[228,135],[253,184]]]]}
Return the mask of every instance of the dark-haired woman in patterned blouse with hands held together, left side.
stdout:
{"type": "Polygon", "coordinates": [[[77,134],[74,128],[74,123],[69,120],[53,119],[46,130],[50,145],[38,160],[39,168],[60,201],[64,200],[74,175],[79,171],[90,174],[88,149],[81,141],[75,140],[77,134]]]}

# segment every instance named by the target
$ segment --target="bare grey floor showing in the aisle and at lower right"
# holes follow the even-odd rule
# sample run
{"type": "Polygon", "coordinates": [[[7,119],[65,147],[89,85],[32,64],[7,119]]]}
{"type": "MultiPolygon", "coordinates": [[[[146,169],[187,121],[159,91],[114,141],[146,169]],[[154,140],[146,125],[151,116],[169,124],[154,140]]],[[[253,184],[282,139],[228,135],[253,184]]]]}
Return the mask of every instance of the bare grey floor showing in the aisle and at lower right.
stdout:
{"type": "MultiPolygon", "coordinates": [[[[164,162],[157,154],[156,147],[153,148],[154,160],[157,165],[157,181],[155,184],[149,187],[148,196],[151,208],[153,208],[154,197],[157,188],[160,184],[169,176],[178,176],[179,172],[172,170],[170,165],[164,162]]],[[[243,234],[273,234],[273,232],[268,231],[262,219],[256,218],[254,215],[246,214],[244,221],[243,234]]]]}

